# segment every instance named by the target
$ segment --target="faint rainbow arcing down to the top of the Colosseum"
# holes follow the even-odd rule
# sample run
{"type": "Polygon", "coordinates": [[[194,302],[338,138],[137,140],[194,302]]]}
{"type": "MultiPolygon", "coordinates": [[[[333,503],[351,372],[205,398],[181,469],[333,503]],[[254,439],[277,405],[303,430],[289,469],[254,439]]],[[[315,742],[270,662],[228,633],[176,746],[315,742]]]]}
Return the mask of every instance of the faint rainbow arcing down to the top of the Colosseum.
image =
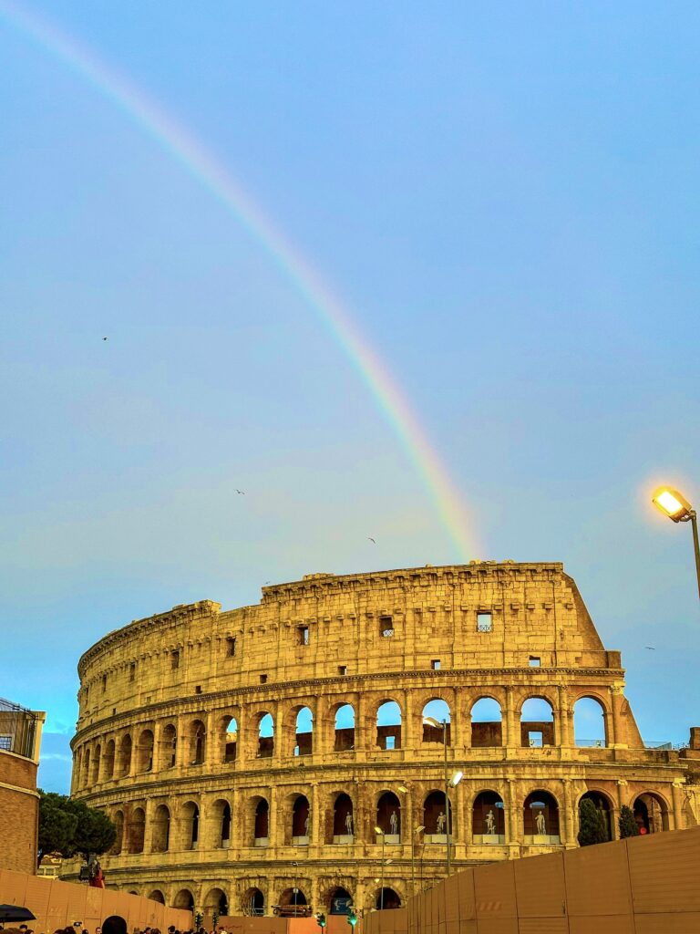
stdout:
{"type": "Polygon", "coordinates": [[[389,374],[385,361],[357,328],[357,323],[332,293],[315,269],[293,248],[287,238],[265,216],[231,174],[202,143],[147,95],[112,67],[100,61],[54,23],[35,12],[0,0],[0,14],[22,35],[85,78],[169,156],[197,179],[231,212],[286,274],[321,323],[331,333],[358,375],[371,391],[375,403],[399,439],[434,503],[441,524],[455,547],[457,559],[466,561],[478,554],[475,536],[464,503],[435,447],[431,445],[406,396],[389,374]]]}

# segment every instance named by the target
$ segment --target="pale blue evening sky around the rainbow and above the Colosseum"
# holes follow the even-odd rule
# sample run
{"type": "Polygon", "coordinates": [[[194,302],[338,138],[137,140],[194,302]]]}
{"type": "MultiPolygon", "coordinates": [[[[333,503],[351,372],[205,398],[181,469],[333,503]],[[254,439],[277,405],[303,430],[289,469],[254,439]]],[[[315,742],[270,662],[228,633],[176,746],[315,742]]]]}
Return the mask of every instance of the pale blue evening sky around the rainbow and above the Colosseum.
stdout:
{"type": "MultiPolygon", "coordinates": [[[[649,495],[700,500],[697,5],[23,8],[217,155],[405,391],[473,557],[563,560],[642,735],[684,740],[690,530],[649,495]]],[[[0,58],[3,692],[48,710],[60,789],[105,631],[458,556],[245,226],[11,15],[0,58]]]]}

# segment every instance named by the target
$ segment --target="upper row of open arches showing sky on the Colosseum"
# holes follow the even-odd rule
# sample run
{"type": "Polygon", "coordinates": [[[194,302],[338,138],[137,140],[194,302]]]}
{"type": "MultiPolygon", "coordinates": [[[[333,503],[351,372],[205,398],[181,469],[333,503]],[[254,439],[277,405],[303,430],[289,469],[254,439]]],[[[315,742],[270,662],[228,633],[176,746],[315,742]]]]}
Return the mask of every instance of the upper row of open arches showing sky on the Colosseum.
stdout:
{"type": "MultiPolygon", "coordinates": [[[[547,746],[555,742],[554,708],[551,701],[541,696],[528,697],[515,712],[520,731],[516,739],[522,746],[547,746]]],[[[273,757],[279,743],[281,755],[310,756],[315,751],[314,714],[310,707],[292,709],[292,718],[283,729],[278,741],[274,718],[268,711],[258,711],[253,717],[250,752],[254,757],[273,757]]],[[[608,744],[607,710],[597,698],[584,696],[573,706],[574,740],[578,745],[605,746],[608,744]]],[[[399,749],[402,744],[402,712],[398,701],[387,700],[376,709],[375,740],[381,749],[399,749]]],[[[499,701],[482,697],[469,709],[470,745],[472,748],[501,746],[506,742],[503,730],[503,712],[499,701]]],[[[421,743],[452,743],[452,712],[447,701],[434,698],[427,701],[422,711],[421,743]],[[441,726],[441,725],[444,726],[441,726]]],[[[239,728],[235,716],[222,715],[214,729],[216,745],[213,761],[231,763],[239,757],[239,728]]],[[[332,748],[335,752],[355,749],[356,714],[350,703],[338,703],[334,710],[332,748]]],[[[142,729],[134,743],[130,732],[119,742],[109,739],[77,751],[77,788],[97,785],[132,773],[166,771],[182,765],[203,765],[207,756],[207,730],[203,719],[193,717],[177,734],[175,723],[162,727],[158,742],[154,729],[142,729]],[[179,742],[179,746],[178,746],[179,742]]]]}

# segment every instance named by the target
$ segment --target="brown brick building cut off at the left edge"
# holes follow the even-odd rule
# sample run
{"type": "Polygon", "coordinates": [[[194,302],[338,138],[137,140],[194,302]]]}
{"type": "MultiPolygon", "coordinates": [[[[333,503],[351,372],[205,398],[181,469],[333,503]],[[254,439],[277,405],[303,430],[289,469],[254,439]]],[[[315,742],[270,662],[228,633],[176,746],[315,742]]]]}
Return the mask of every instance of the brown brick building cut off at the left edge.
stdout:
{"type": "Polygon", "coordinates": [[[0,699],[0,817],[6,841],[0,869],[36,871],[41,728],[46,715],[0,699]]]}

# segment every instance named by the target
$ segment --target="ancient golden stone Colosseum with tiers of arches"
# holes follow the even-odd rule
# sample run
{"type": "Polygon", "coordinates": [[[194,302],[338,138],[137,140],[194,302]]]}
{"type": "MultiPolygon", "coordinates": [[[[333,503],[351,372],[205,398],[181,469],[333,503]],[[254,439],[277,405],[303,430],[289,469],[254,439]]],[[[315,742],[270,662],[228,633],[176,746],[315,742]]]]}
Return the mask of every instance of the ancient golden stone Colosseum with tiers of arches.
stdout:
{"type": "Polygon", "coordinates": [[[110,887],[222,914],[390,908],[470,864],[697,823],[700,729],[646,748],[559,563],[263,587],[135,620],[80,658],[72,794],[110,887]],[[448,803],[449,802],[449,803],[448,803]]]}

